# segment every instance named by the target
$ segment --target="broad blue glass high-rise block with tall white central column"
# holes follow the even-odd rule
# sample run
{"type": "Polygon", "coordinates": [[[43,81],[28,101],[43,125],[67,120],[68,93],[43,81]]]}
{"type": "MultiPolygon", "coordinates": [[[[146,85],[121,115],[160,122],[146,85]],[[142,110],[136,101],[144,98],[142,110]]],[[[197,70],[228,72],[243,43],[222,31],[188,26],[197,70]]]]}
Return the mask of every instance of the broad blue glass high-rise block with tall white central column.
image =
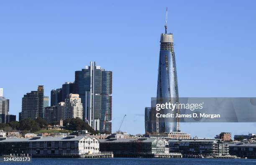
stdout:
{"type": "Polygon", "coordinates": [[[82,71],[75,71],[74,93],[83,105],[83,119],[102,132],[112,131],[112,72],[90,62],[82,71]]]}

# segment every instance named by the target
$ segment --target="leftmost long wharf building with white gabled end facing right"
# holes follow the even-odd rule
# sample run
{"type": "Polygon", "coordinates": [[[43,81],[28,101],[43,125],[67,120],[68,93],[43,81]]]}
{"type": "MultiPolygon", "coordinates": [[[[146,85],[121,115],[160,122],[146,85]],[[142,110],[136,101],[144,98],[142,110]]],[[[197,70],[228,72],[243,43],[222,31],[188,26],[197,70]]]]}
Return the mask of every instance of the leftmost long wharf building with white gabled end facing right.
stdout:
{"type": "Polygon", "coordinates": [[[0,155],[58,157],[99,153],[99,141],[85,136],[0,138],[0,155]]]}

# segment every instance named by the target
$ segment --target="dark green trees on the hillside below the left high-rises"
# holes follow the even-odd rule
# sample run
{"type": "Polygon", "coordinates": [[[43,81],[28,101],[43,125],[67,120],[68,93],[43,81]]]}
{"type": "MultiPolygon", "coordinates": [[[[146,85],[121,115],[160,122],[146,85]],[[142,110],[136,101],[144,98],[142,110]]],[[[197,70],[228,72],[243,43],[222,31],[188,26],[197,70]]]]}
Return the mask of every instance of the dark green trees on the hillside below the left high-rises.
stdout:
{"type": "MultiPolygon", "coordinates": [[[[10,122],[8,124],[0,123],[0,129],[3,129],[4,131],[24,131],[24,132],[36,132],[40,129],[45,129],[47,127],[47,124],[57,124],[54,123],[47,123],[44,119],[38,117],[36,120],[32,119],[24,119],[20,122],[10,122]]],[[[63,126],[67,130],[72,131],[80,131],[80,130],[87,130],[90,132],[90,134],[98,134],[99,131],[95,131],[92,127],[90,127],[89,124],[84,122],[83,120],[79,118],[71,118],[66,119],[63,121],[63,126]]]]}

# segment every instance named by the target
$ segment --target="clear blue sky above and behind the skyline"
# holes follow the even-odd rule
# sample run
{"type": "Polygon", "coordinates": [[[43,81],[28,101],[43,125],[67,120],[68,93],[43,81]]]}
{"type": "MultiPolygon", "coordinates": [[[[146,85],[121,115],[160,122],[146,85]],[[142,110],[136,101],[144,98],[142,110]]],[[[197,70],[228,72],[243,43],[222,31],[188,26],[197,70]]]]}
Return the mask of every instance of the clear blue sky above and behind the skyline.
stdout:
{"type": "MultiPolygon", "coordinates": [[[[74,81],[90,61],[113,71],[113,131],[144,133],[156,96],[160,33],[174,33],[180,97],[256,96],[256,1],[0,2],[0,87],[10,113],[23,94],[74,81]]],[[[255,133],[253,123],[182,123],[192,136],[255,133]]]]}

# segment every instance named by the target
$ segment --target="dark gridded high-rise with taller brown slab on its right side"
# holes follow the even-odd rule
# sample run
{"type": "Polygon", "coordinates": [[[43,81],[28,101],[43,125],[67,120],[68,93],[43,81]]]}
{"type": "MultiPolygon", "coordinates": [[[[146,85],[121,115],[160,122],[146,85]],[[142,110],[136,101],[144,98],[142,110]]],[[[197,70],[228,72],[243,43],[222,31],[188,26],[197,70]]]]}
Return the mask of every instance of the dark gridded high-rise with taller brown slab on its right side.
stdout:
{"type": "Polygon", "coordinates": [[[37,91],[31,91],[23,96],[20,117],[20,120],[44,117],[44,86],[38,86],[37,91]]]}

